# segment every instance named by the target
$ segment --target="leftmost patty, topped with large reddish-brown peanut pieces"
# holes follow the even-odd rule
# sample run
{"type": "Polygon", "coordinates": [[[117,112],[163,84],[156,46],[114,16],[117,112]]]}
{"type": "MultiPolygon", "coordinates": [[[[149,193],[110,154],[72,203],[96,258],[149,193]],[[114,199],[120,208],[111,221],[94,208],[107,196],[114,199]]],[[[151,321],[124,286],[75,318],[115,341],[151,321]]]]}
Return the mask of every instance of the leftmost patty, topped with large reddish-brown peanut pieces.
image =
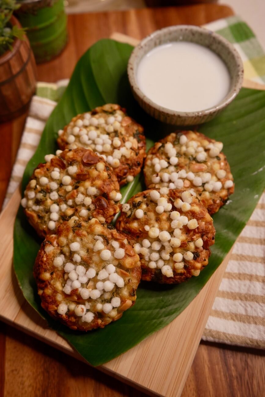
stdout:
{"type": "Polygon", "coordinates": [[[112,221],[122,195],[115,173],[102,157],[78,148],[58,156],[48,154],[45,160],[35,169],[21,200],[40,236],[54,233],[74,215],[82,220],[112,221]]]}

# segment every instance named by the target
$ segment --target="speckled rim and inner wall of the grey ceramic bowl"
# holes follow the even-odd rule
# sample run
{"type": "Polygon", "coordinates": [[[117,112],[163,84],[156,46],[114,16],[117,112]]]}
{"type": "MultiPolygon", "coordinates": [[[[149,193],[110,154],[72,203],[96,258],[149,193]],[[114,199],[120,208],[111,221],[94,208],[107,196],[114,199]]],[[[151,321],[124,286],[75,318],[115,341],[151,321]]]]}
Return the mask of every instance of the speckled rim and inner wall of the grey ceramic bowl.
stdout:
{"type": "MultiPolygon", "coordinates": [[[[174,40],[172,40],[172,41],[174,41],[174,40]]],[[[183,40],[183,41],[188,41],[188,40],[183,40]]],[[[193,41],[193,42],[196,43],[196,41],[193,41]]],[[[197,44],[203,46],[203,44],[200,44],[200,43],[197,43],[197,44]]],[[[206,47],[206,48],[208,48],[208,47],[206,47]]],[[[217,52],[215,52],[211,48],[209,48],[209,49],[211,51],[213,51],[215,54],[217,54],[217,52]]],[[[145,54],[147,54],[147,52],[145,54]]],[[[217,55],[220,57],[219,54],[217,54],[217,55]]],[[[227,67],[226,62],[224,60],[223,60],[223,62],[227,67]]],[[[234,48],[233,44],[231,44],[228,40],[224,39],[224,37],[222,37],[218,33],[215,33],[213,31],[211,31],[210,29],[206,29],[204,27],[200,27],[200,26],[196,26],[196,25],[172,25],[172,26],[164,27],[162,29],[154,31],[150,35],[146,36],[143,40],[141,40],[139,42],[139,44],[137,44],[137,46],[133,49],[132,54],[130,55],[130,58],[128,61],[127,73],[128,73],[128,78],[129,78],[129,82],[132,87],[132,90],[135,92],[135,94],[139,98],[141,98],[142,101],[147,103],[149,106],[151,106],[155,110],[162,112],[164,114],[167,114],[169,116],[194,118],[196,116],[208,115],[208,114],[212,114],[213,112],[222,110],[224,107],[226,107],[228,104],[230,104],[230,102],[232,102],[232,100],[234,100],[234,98],[237,96],[240,89],[242,88],[243,77],[244,77],[244,66],[243,66],[242,59],[241,59],[238,51],[236,50],[236,48],[234,48]],[[226,48],[228,48],[228,51],[230,51],[232,56],[234,56],[236,64],[238,65],[238,68],[235,71],[235,74],[237,75],[236,81],[234,82],[233,85],[231,85],[230,90],[228,91],[226,96],[217,105],[211,106],[210,108],[207,108],[207,109],[195,110],[192,112],[183,112],[183,111],[179,112],[178,110],[172,110],[169,108],[165,108],[164,106],[161,106],[161,105],[153,102],[153,100],[151,100],[148,96],[146,96],[143,93],[143,91],[141,91],[141,89],[139,88],[139,85],[137,84],[137,81],[135,78],[135,61],[137,60],[137,53],[139,52],[139,50],[141,50],[142,47],[150,40],[155,40],[155,39],[157,39],[157,37],[164,35],[164,33],[168,32],[168,31],[174,32],[174,31],[179,31],[179,30],[183,30],[183,29],[185,29],[185,30],[189,29],[194,32],[200,32],[200,33],[203,33],[204,35],[211,35],[211,37],[214,37],[215,40],[221,42],[224,46],[226,46],[226,48]]],[[[232,81],[232,76],[230,76],[230,77],[231,77],[231,81],[232,81]]]]}

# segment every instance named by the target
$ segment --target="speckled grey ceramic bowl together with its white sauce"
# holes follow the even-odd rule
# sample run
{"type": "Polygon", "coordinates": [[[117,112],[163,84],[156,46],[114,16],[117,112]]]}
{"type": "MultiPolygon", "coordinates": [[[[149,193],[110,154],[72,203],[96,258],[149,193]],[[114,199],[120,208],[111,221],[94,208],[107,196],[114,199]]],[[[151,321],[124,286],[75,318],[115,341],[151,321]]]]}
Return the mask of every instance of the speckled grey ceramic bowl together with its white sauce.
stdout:
{"type": "Polygon", "coordinates": [[[150,116],[167,124],[213,119],[242,87],[240,55],[226,39],[192,25],[155,31],[128,62],[132,93],[150,116]]]}

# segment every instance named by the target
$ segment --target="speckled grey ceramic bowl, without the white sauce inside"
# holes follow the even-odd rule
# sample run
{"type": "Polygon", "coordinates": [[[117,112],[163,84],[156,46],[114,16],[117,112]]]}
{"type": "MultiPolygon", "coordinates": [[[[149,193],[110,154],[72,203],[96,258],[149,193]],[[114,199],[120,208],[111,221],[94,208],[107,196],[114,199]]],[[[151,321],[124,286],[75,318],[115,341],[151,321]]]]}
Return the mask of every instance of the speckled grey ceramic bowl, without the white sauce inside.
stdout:
{"type": "Polygon", "coordinates": [[[242,60],[232,44],[208,29],[191,25],[170,26],[155,31],[135,47],[128,62],[130,85],[133,96],[140,106],[152,117],[164,123],[175,125],[194,125],[213,119],[239,93],[243,75],[242,60]],[[209,48],[219,55],[226,64],[231,77],[230,91],[218,105],[198,112],[177,112],[156,104],[139,89],[136,72],[143,56],[161,44],[180,40],[194,42],[209,48]]]}

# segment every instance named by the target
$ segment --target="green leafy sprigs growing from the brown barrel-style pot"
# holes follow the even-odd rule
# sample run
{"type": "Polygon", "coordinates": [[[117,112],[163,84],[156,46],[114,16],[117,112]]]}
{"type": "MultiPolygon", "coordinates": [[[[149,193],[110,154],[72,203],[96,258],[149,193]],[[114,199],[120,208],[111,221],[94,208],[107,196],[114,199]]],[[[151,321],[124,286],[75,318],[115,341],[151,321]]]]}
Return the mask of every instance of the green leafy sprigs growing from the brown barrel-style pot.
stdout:
{"type": "Polygon", "coordinates": [[[15,0],[0,0],[0,56],[7,50],[12,50],[12,43],[16,37],[23,39],[25,34],[24,29],[10,23],[14,10],[19,7],[15,0]]]}

